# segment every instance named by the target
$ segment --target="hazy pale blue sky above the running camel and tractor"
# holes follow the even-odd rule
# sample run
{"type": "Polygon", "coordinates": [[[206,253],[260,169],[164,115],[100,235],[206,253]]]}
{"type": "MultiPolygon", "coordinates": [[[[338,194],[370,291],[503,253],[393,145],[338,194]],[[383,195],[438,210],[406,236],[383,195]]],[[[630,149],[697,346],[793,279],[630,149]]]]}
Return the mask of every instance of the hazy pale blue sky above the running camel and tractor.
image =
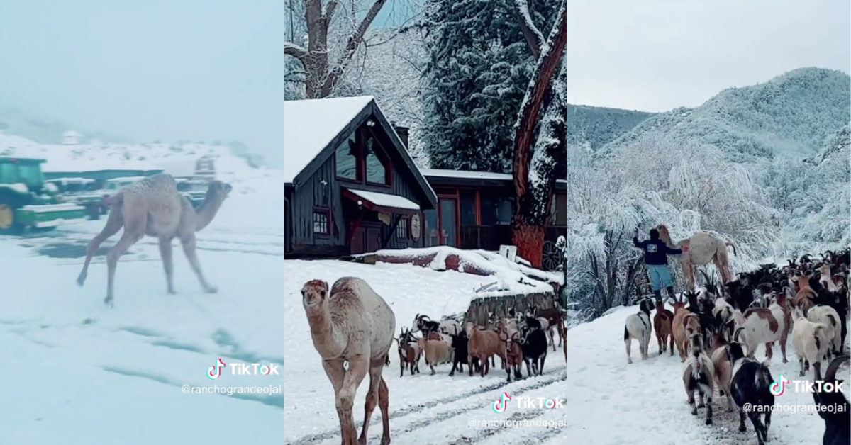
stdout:
{"type": "Polygon", "coordinates": [[[3,1],[0,17],[0,106],[281,162],[284,0],[3,1]]]}

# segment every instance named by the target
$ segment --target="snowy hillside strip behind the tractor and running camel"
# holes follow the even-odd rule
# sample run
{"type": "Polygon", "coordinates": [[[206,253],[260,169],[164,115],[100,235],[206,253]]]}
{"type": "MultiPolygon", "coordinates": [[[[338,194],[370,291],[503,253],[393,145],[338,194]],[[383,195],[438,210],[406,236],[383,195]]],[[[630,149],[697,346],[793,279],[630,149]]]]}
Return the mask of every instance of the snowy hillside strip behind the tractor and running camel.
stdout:
{"type": "MultiPolygon", "coordinates": [[[[232,154],[231,147],[206,143],[148,144],[40,144],[21,136],[0,132],[0,156],[46,159],[47,172],[79,172],[106,169],[173,169],[193,165],[198,158],[214,159],[217,178],[233,185],[245,180],[275,175],[272,170],[255,168],[245,157],[232,154]]],[[[185,168],[184,168],[185,169],[185,168]]]]}

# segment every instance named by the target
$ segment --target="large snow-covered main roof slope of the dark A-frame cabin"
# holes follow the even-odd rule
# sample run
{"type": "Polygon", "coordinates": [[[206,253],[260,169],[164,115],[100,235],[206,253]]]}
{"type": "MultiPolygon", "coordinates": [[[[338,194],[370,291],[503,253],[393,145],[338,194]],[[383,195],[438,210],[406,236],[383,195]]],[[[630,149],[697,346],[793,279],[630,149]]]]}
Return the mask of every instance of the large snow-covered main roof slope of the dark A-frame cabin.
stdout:
{"type": "Polygon", "coordinates": [[[373,100],[372,96],[284,100],[284,180],[293,182],[373,100]]]}

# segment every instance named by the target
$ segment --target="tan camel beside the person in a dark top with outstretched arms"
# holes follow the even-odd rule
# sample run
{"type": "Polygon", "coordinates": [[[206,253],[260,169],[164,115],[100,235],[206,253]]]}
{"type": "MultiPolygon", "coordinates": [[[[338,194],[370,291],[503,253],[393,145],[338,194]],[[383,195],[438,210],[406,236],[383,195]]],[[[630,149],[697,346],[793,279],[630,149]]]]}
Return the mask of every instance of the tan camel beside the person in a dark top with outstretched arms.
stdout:
{"type": "Polygon", "coordinates": [[[721,273],[723,283],[728,283],[733,280],[733,274],[730,272],[730,260],[727,253],[727,246],[733,248],[733,254],[736,254],[736,247],[732,242],[725,242],[722,239],[713,237],[708,233],[699,231],[679,242],[671,241],[671,233],[668,232],[668,227],[664,224],[656,226],[659,231],[659,238],[670,248],[681,248],[683,254],[680,254],[680,266],[683,268],[683,277],[688,283],[688,290],[694,291],[694,268],[702,265],[707,265],[711,261],[721,273]]]}

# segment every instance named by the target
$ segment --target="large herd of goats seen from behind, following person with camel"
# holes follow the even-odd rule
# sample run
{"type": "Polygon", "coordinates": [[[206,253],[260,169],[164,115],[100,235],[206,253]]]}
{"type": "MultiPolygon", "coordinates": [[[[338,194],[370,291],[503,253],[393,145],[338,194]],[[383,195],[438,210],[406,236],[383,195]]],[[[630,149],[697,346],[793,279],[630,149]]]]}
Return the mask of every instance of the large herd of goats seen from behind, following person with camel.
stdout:
{"type": "MultiPolygon", "coordinates": [[[[674,311],[663,302],[643,298],[640,311],[627,317],[624,328],[626,356],[631,340],[637,339],[642,360],[648,358],[651,312],[660,354],[676,345],[684,362],[683,385],[688,394],[691,414],[705,408],[706,425],[712,424],[712,396],[717,387],[726,397],[727,408],[738,407],[739,431],[745,428],[745,415],[757,432],[757,443],[767,440],[771,424],[774,379],[768,366],[772,346],[780,344],[786,360],[786,339],[805,376],[812,366],[814,380],[836,385],[837,369],[848,362],[844,351],[848,334],[848,271],[851,251],[825,252],[821,260],[804,255],[788,265],[761,265],[757,271],[742,272],[730,282],[717,285],[705,277],[703,288],[683,293],[672,302],[674,311]],[[757,346],[764,343],[768,360],[754,358],[757,346]],[[828,362],[825,374],[821,362],[828,362]],[[698,395],[695,405],[694,393],[698,395]],[[705,402],[704,402],[705,399],[705,402]],[[745,413],[745,407],[747,412],[745,413]]],[[[823,445],[851,443],[848,399],[840,391],[825,391],[832,385],[815,385],[813,399],[825,421],[823,445]]]]}

